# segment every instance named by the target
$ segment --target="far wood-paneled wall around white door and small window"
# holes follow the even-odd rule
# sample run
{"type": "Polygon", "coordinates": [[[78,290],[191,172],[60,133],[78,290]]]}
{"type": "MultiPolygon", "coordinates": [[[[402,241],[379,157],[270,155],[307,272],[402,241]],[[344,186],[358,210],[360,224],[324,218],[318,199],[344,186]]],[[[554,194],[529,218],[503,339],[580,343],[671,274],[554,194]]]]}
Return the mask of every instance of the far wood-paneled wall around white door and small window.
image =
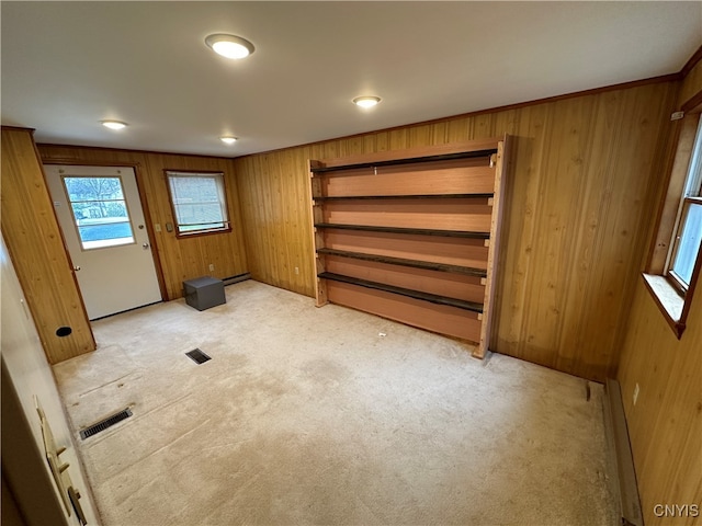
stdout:
{"type": "Polygon", "coordinates": [[[144,211],[151,226],[159,224],[162,227],[160,232],[151,231],[150,235],[162,271],[165,299],[180,298],[184,279],[199,276],[225,278],[248,272],[237,179],[230,159],[56,145],[38,145],[38,150],[44,163],[136,168],[139,192],[146,198],[144,211]],[[167,222],[174,224],[163,173],[166,169],[224,172],[231,232],[179,239],[176,232],[166,231],[167,222]],[[210,264],[215,265],[214,272],[210,271],[210,264]]]}

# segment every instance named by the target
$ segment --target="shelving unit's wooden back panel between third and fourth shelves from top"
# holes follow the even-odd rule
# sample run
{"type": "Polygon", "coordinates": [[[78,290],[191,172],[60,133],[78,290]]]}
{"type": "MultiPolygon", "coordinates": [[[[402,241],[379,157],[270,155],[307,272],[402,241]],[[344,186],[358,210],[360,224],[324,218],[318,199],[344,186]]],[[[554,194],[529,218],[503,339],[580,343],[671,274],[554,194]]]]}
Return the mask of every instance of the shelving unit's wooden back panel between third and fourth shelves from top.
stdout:
{"type": "Polygon", "coordinates": [[[325,230],[324,236],[325,245],[329,249],[487,268],[488,248],[482,239],[335,229],[325,230]]]}

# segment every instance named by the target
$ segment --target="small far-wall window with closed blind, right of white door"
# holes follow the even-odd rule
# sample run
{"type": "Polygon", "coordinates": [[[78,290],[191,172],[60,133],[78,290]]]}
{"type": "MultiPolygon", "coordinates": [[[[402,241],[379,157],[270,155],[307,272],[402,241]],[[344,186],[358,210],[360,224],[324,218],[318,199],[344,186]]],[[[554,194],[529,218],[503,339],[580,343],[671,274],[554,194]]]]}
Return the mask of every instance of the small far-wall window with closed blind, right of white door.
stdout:
{"type": "Polygon", "coordinates": [[[178,236],[231,229],[222,172],[167,170],[166,178],[178,236]]]}

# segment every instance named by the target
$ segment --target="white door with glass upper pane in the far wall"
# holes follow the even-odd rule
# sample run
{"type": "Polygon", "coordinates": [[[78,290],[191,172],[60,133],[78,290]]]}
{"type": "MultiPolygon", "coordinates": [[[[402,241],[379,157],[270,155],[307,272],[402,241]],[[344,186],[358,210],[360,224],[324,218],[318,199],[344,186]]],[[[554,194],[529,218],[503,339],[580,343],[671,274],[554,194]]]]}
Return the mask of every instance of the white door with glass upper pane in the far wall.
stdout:
{"type": "Polygon", "coordinates": [[[160,301],[134,169],[44,170],[88,318],[160,301]]]}

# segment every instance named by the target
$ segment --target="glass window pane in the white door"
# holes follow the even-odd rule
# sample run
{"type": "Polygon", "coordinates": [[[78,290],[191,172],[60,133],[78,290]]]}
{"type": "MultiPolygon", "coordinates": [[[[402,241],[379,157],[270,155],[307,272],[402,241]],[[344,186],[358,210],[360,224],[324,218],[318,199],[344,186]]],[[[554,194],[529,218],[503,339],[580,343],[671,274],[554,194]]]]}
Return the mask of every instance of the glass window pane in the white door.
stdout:
{"type": "Polygon", "coordinates": [[[134,242],[120,178],[64,178],[83,250],[134,242]]]}

